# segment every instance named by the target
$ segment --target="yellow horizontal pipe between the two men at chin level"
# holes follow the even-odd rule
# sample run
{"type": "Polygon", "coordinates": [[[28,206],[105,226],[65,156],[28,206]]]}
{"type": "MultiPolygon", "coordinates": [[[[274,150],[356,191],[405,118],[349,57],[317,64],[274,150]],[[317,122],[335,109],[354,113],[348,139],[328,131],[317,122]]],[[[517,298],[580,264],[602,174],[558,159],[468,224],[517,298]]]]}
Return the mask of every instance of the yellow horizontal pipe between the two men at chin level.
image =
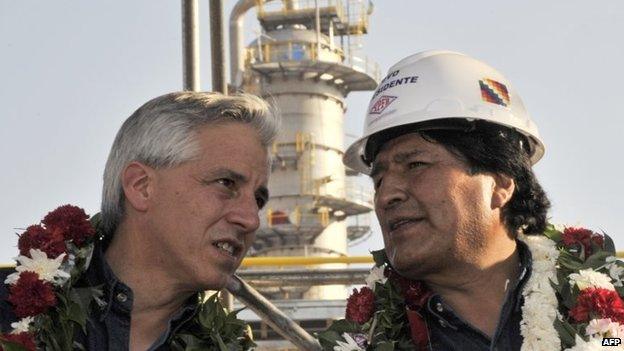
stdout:
{"type": "Polygon", "coordinates": [[[266,256],[246,257],[242,267],[254,266],[310,266],[328,263],[373,263],[373,256],[266,256]]]}

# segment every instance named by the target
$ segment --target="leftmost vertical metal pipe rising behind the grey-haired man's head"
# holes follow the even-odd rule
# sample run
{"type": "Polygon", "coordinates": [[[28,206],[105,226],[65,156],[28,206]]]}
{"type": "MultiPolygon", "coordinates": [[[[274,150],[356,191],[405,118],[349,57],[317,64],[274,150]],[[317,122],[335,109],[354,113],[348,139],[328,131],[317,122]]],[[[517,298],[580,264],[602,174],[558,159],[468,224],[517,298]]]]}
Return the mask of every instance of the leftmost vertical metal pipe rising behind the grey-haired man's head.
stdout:
{"type": "Polygon", "coordinates": [[[183,89],[199,91],[199,20],[197,0],[182,0],[183,89]]]}

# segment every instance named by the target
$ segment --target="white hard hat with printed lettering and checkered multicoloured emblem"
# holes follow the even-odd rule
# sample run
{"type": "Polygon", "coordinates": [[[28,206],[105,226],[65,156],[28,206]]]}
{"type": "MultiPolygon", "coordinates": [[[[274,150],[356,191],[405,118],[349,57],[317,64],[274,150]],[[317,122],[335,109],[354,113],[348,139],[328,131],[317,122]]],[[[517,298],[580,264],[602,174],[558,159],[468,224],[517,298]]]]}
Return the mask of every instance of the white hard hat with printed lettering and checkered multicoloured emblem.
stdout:
{"type": "Polygon", "coordinates": [[[512,128],[528,141],[530,160],[544,155],[537,127],[509,81],[494,68],[461,53],[424,51],[392,66],[368,106],[364,135],[345,152],[348,167],[370,173],[367,144],[391,128],[449,129],[475,120],[512,128]]]}

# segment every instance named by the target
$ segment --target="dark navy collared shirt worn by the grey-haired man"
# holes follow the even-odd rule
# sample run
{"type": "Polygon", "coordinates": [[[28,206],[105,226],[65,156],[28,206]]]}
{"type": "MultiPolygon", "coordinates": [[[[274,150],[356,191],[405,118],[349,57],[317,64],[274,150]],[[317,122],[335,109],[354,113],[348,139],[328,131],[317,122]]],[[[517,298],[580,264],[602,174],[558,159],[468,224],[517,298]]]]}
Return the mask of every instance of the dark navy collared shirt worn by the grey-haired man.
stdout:
{"type": "MultiPolygon", "coordinates": [[[[4,282],[4,274],[0,278],[4,282]]],[[[8,275],[8,274],[7,274],[8,275]]],[[[132,290],[120,281],[104,259],[100,245],[96,245],[91,260],[91,265],[85,274],[84,280],[79,285],[101,286],[103,290],[101,305],[92,304],[87,321],[87,333],[84,334],[77,328],[76,341],[90,351],[124,351],[130,346],[130,316],[132,312],[132,290]]],[[[4,284],[2,284],[4,285],[4,284]]],[[[7,292],[5,287],[0,288],[0,324],[2,331],[10,328],[10,323],[15,321],[15,316],[10,313],[10,306],[6,302],[7,292]]],[[[193,318],[198,309],[198,298],[192,296],[184,306],[169,320],[167,330],[152,344],[148,351],[169,350],[167,341],[169,338],[193,318]]]]}

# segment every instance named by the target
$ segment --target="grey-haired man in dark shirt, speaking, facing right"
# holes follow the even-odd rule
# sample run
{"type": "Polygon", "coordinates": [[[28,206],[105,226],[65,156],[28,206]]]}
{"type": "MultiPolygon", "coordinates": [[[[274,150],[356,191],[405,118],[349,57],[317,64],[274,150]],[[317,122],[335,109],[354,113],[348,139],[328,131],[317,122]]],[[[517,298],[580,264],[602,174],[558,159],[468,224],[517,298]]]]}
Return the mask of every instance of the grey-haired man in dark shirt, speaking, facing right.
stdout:
{"type": "Polygon", "coordinates": [[[79,343],[171,348],[197,315],[198,293],[222,289],[254,240],[277,128],[258,97],[200,92],[157,97],[124,122],[84,277],[105,303],[89,312],[79,343]]]}

